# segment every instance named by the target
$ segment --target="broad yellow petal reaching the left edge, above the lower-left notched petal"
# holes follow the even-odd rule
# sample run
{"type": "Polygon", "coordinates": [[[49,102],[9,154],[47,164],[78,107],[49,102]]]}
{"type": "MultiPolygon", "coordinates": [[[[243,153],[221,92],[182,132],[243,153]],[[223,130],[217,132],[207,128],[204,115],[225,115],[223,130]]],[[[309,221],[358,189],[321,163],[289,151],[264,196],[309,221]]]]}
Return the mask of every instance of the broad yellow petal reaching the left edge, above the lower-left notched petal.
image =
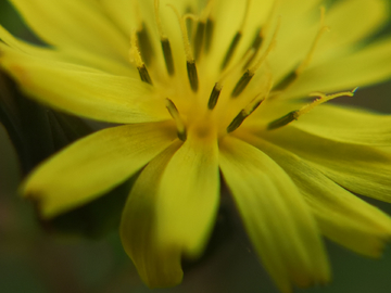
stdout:
{"type": "Polygon", "coordinates": [[[50,106],[112,123],[153,122],[169,117],[164,100],[140,79],[1,48],[1,66],[28,94],[50,106]]]}

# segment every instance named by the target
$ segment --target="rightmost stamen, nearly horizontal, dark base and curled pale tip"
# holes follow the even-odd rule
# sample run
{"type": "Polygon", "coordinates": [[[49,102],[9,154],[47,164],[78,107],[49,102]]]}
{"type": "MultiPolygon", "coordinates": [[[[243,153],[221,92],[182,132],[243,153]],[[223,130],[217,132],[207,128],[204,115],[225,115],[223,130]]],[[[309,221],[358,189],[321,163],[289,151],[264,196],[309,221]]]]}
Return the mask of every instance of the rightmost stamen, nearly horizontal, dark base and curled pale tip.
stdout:
{"type": "Polygon", "coordinates": [[[354,88],[351,91],[343,91],[343,92],[338,92],[338,93],[333,93],[333,94],[325,94],[325,93],[321,93],[321,92],[313,92],[313,93],[310,94],[310,97],[319,97],[319,99],[316,99],[312,103],[306,104],[301,110],[291,111],[287,115],[283,115],[282,117],[269,123],[267,125],[267,130],[274,130],[274,129],[280,128],[282,126],[286,126],[286,125],[290,124],[291,122],[297,120],[301,115],[308,113],[315,106],[317,106],[319,104],[323,104],[323,103],[325,103],[327,101],[330,101],[332,99],[336,99],[336,98],[339,98],[339,97],[353,97],[357,89],[358,88],[354,88]]]}

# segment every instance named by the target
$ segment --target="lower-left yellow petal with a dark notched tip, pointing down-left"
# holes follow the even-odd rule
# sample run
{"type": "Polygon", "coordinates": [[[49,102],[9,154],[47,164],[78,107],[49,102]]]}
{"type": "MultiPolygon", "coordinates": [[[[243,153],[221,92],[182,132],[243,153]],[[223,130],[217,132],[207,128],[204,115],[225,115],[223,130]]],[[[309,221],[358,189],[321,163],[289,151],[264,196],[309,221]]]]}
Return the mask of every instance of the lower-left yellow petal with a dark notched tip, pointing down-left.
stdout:
{"type": "Polygon", "coordinates": [[[37,200],[46,218],[81,205],[130,177],[176,138],[171,122],[98,131],[34,171],[22,192],[37,200]]]}

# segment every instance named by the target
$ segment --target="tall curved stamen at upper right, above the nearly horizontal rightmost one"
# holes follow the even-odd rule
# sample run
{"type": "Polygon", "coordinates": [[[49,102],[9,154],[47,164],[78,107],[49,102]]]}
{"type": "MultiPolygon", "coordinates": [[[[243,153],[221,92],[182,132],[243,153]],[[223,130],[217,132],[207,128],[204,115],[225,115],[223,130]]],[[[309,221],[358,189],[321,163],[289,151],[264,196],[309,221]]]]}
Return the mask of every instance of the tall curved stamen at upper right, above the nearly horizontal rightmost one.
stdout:
{"type": "Polygon", "coordinates": [[[321,7],[320,8],[319,30],[316,34],[316,37],[314,39],[313,44],[311,46],[308,53],[306,54],[304,60],[301,62],[301,64],[297,67],[297,69],[294,72],[291,72],[290,74],[288,74],[285,78],[282,78],[281,81],[279,81],[275,86],[275,88],[274,88],[275,91],[281,91],[281,90],[285,90],[286,88],[288,88],[288,86],[290,86],[298,78],[298,76],[300,74],[302,74],[306,67],[308,67],[308,65],[314,56],[316,46],[318,44],[321,36],[328,30],[329,30],[329,27],[325,25],[325,8],[321,7]]]}

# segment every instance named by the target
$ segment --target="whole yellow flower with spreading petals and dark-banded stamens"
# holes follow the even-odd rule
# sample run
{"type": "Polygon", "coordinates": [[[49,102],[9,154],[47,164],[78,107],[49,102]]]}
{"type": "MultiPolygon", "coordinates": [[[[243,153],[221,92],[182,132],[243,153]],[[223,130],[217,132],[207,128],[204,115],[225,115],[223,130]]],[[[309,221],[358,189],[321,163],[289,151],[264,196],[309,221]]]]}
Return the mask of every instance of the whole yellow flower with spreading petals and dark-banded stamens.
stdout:
{"type": "Polygon", "coordinates": [[[380,255],[391,219],[351,192],[391,201],[391,117],[321,103],[391,76],[391,39],[363,42],[387,0],[12,2],[50,44],[1,28],[1,66],[23,90],[124,124],[27,179],[43,217],[141,170],[121,235],[150,286],[179,283],[181,258],[202,254],[223,180],[282,292],[329,280],[321,234],[380,255]]]}

